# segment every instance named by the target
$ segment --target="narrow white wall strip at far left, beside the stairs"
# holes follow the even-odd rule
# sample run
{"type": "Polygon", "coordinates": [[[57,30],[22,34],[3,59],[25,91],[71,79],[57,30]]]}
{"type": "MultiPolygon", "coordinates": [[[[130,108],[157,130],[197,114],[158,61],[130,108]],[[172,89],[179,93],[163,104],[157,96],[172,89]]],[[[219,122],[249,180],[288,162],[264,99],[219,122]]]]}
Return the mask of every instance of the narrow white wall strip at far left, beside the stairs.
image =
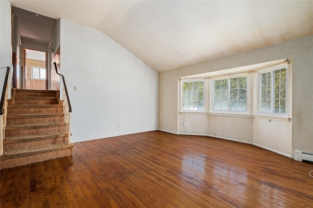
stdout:
{"type": "MultiPolygon", "coordinates": [[[[11,4],[0,0],[0,88],[2,93],[6,67],[11,67],[12,47],[11,47],[11,4]]],[[[12,67],[9,78],[12,77],[12,67]]],[[[8,80],[11,86],[11,80],[8,80]]],[[[11,97],[11,87],[8,90],[8,98],[11,97]]]]}

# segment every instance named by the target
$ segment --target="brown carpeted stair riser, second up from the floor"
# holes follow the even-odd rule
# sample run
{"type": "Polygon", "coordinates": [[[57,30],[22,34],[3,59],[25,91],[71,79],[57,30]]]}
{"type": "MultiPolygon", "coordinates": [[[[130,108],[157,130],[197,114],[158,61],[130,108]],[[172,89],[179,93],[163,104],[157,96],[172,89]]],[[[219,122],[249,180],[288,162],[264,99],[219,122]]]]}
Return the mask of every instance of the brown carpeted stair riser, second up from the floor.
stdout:
{"type": "Polygon", "coordinates": [[[67,142],[68,142],[67,137],[58,137],[58,138],[38,140],[38,141],[5,144],[3,146],[3,149],[5,149],[5,152],[7,152],[7,151],[18,150],[18,149],[34,148],[36,146],[41,146],[41,145],[56,145],[56,144],[67,143],[67,142]]]}

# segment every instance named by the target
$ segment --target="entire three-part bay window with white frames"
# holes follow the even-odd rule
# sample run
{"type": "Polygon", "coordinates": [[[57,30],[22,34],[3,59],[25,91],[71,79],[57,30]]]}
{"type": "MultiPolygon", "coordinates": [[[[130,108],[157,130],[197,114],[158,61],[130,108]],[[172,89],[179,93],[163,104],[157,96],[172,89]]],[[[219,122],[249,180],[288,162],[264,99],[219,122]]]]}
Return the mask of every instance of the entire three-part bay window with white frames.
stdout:
{"type": "Polygon", "coordinates": [[[292,59],[282,59],[182,77],[180,111],[286,121],[291,116],[291,76],[292,59]]]}

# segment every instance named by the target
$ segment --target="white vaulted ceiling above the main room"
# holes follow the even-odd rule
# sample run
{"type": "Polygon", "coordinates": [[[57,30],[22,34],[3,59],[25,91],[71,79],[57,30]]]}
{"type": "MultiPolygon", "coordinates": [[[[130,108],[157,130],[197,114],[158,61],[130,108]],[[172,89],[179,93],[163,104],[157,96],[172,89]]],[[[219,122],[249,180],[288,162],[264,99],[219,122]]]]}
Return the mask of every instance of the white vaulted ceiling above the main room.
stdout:
{"type": "Polygon", "coordinates": [[[158,71],[313,34],[313,1],[8,0],[108,35],[158,71]]]}

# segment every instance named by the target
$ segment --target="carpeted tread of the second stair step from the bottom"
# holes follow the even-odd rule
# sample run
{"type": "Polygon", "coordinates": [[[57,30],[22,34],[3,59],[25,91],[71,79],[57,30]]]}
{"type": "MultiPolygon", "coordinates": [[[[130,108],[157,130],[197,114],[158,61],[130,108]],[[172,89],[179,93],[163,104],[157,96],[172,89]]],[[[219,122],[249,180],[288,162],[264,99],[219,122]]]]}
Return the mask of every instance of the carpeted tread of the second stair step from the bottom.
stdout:
{"type": "Polygon", "coordinates": [[[13,143],[22,143],[24,141],[37,141],[37,140],[45,140],[45,139],[53,139],[58,137],[66,137],[67,132],[57,132],[57,133],[48,133],[48,134],[36,134],[36,135],[28,135],[28,136],[20,136],[20,137],[6,137],[3,140],[4,144],[13,144],[13,143]]]}

